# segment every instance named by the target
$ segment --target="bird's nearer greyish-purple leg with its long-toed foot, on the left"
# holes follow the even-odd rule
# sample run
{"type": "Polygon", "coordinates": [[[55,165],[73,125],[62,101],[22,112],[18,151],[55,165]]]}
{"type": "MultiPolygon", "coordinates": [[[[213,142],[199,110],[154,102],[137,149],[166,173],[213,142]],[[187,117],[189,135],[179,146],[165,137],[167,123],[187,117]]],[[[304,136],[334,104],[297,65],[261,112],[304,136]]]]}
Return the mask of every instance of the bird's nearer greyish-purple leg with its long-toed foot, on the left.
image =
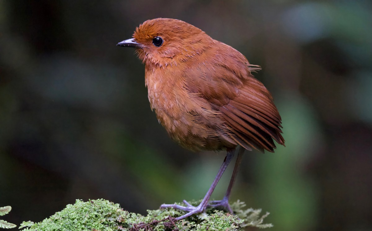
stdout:
{"type": "Polygon", "coordinates": [[[222,174],[224,173],[230,161],[232,160],[232,157],[234,157],[234,152],[235,152],[235,148],[227,149],[227,155],[224,159],[224,162],[222,163],[221,167],[218,170],[217,176],[213,180],[211,187],[209,187],[208,192],[206,193],[202,202],[198,206],[196,207],[192,206],[189,203],[185,202],[184,200],[184,203],[186,204],[186,206],[181,206],[181,205],[176,205],[176,204],[163,204],[160,206],[160,208],[175,208],[175,209],[181,209],[181,210],[188,212],[187,214],[183,216],[177,217],[176,218],[177,220],[184,219],[187,216],[190,216],[192,214],[204,212],[205,208],[208,206],[208,201],[209,201],[209,198],[211,198],[213,190],[215,189],[219,179],[221,179],[222,174]]]}

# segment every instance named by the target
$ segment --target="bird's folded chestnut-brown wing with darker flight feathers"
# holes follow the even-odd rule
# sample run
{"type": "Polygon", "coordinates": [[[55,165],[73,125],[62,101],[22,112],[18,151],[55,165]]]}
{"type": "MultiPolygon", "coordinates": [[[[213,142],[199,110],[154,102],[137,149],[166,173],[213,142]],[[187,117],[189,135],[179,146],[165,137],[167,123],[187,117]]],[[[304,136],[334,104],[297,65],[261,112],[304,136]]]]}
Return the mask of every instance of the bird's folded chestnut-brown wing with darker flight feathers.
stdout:
{"type": "Polygon", "coordinates": [[[250,150],[273,152],[284,145],[281,118],[266,87],[251,71],[259,69],[234,48],[222,44],[203,53],[188,70],[187,89],[206,99],[231,128],[231,138],[250,150]]]}

